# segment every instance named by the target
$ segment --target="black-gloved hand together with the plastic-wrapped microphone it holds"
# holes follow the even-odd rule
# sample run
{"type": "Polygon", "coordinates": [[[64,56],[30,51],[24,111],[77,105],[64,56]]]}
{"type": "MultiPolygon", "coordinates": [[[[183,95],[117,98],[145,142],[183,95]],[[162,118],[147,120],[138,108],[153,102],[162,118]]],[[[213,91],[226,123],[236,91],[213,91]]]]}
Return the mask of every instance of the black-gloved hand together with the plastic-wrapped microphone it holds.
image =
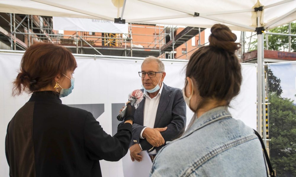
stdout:
{"type": "Polygon", "coordinates": [[[118,114],[117,119],[119,121],[134,120],[134,114],[136,108],[139,106],[139,103],[143,99],[143,92],[141,90],[134,90],[131,94],[128,95],[128,103],[122,111],[118,114]]]}

